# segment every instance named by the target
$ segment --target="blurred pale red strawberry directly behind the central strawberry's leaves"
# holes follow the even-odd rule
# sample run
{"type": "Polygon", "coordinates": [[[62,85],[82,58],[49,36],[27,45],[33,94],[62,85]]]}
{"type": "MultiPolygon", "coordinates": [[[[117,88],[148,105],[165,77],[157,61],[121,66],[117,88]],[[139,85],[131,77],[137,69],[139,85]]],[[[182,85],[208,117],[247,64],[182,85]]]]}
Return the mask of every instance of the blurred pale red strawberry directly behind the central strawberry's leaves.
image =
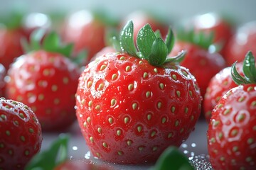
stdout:
{"type": "Polygon", "coordinates": [[[133,13],[130,13],[122,21],[122,28],[130,20],[132,20],[132,23],[134,24],[134,40],[137,40],[139,30],[147,23],[149,23],[152,30],[159,30],[163,38],[165,38],[169,29],[168,23],[160,22],[152,14],[146,13],[145,11],[134,11],[133,13]]]}

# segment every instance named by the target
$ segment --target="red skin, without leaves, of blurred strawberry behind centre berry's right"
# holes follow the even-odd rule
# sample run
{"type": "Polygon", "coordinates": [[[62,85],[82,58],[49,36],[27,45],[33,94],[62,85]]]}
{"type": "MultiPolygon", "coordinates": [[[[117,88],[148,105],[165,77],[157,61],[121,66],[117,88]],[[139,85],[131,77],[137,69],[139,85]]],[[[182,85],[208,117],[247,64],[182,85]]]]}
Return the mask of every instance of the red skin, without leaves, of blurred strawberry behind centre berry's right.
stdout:
{"type": "Polygon", "coordinates": [[[188,68],[196,77],[201,95],[204,96],[210,79],[225,68],[225,60],[218,53],[210,53],[197,45],[182,41],[175,43],[169,56],[175,56],[181,50],[186,50],[186,56],[181,65],[188,68]]]}

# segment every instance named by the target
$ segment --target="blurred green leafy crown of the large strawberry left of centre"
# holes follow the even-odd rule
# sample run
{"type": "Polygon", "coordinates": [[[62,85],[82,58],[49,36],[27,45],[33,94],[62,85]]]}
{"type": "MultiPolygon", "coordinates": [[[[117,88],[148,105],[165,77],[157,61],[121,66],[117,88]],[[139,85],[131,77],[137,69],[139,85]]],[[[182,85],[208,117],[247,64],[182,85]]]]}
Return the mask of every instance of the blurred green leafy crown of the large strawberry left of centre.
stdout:
{"type": "Polygon", "coordinates": [[[79,64],[86,57],[86,52],[82,50],[77,57],[72,57],[73,43],[62,44],[60,36],[54,30],[46,33],[46,29],[39,28],[31,33],[29,42],[23,38],[21,39],[23,49],[28,53],[36,50],[45,50],[47,52],[57,52],[71,61],[79,64]]]}

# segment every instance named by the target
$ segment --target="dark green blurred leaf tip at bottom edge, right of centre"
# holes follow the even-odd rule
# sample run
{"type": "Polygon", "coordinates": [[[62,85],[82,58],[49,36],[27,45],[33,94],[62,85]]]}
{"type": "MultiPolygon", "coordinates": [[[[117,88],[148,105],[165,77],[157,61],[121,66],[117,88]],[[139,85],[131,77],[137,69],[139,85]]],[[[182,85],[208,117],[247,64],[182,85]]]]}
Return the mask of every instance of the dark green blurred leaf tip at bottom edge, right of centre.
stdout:
{"type": "Polygon", "coordinates": [[[189,163],[188,157],[182,154],[176,147],[168,147],[160,155],[155,166],[151,170],[193,170],[193,166],[189,163]]]}

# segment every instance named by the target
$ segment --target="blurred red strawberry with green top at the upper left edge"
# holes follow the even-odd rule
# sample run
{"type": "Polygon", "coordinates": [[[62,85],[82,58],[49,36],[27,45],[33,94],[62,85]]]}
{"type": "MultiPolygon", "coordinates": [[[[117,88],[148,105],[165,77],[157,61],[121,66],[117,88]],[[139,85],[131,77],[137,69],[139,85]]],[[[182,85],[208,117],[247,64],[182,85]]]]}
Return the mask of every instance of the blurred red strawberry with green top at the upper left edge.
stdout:
{"type": "Polygon", "coordinates": [[[0,20],[0,63],[3,64],[6,69],[9,68],[9,65],[14,62],[16,57],[23,55],[21,40],[23,38],[28,40],[32,30],[43,28],[44,26],[36,26],[35,24],[38,23],[38,21],[42,22],[42,17],[41,19],[37,18],[37,22],[35,22],[31,21],[31,17],[24,17],[23,15],[24,13],[13,12],[9,14],[9,16],[4,16],[5,18],[3,20],[0,20]]]}

